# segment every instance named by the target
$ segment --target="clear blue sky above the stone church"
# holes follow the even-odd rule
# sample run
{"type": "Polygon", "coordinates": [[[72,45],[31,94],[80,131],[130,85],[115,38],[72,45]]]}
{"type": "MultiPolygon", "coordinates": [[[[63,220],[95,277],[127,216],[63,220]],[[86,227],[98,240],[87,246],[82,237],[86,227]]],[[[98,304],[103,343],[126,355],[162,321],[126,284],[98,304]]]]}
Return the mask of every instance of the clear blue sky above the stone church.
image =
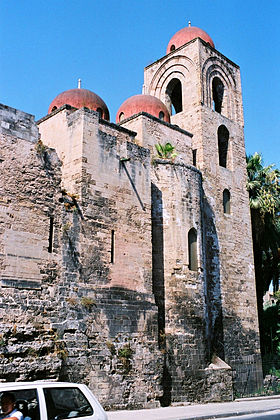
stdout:
{"type": "Polygon", "coordinates": [[[0,0],[0,102],[39,119],[81,78],[115,122],[189,20],[241,68],[247,153],[280,168],[279,0],[0,0]]]}

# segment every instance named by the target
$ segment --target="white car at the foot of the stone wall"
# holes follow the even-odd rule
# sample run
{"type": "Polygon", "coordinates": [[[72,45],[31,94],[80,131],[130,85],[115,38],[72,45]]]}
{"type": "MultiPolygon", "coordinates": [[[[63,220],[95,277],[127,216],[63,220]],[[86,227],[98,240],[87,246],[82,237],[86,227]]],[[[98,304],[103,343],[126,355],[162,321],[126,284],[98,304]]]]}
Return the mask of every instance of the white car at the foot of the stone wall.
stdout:
{"type": "Polygon", "coordinates": [[[108,420],[86,385],[69,382],[4,382],[0,394],[11,392],[24,420],[108,420]]]}

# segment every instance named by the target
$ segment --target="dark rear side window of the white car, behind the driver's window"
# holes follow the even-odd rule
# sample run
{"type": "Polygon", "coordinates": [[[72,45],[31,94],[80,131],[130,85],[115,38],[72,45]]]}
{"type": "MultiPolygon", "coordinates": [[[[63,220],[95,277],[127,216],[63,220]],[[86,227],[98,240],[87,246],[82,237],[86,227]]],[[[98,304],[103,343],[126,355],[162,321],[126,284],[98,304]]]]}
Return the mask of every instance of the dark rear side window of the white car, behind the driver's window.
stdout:
{"type": "Polygon", "coordinates": [[[93,409],[79,388],[44,388],[48,420],[91,416],[93,409]]]}

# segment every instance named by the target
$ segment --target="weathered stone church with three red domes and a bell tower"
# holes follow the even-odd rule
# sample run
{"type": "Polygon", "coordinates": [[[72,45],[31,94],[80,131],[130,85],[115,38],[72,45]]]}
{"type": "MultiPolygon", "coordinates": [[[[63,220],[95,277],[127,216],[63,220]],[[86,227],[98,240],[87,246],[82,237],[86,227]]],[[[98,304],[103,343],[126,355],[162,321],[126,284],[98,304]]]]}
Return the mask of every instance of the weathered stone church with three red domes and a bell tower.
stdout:
{"type": "Polygon", "coordinates": [[[37,123],[0,106],[1,381],[116,409],[260,387],[240,71],[203,34],[170,40],[117,124],[86,89],[37,123]]]}

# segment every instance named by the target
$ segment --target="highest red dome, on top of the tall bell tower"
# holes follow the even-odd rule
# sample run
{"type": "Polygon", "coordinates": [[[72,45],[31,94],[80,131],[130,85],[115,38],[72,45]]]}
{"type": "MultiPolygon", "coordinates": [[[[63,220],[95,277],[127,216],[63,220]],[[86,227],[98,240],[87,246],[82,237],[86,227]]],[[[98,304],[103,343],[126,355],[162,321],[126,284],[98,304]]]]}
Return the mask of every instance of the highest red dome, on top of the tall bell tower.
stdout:
{"type": "Polygon", "coordinates": [[[177,48],[195,38],[201,38],[203,41],[208,42],[211,47],[215,48],[214,42],[205,31],[200,28],[196,28],[195,26],[188,26],[173,35],[167,46],[166,54],[169,54],[171,51],[176,50],[177,48]]]}

